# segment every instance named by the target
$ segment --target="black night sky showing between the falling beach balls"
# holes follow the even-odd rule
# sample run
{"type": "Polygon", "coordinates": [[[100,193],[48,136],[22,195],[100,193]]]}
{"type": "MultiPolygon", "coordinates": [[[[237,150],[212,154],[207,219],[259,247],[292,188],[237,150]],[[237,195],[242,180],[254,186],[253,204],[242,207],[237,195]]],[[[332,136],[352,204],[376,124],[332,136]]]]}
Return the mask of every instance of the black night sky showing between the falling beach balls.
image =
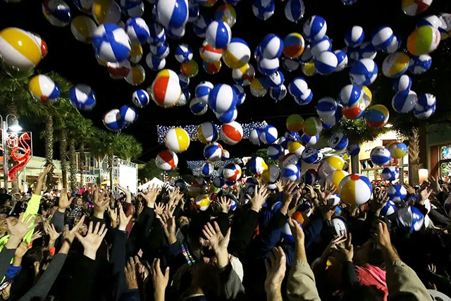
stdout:
{"type": "MultiPolygon", "coordinates": [[[[73,16],[80,15],[71,0],[66,2],[72,8],[73,16]]],[[[145,1],[144,1],[145,2],[145,1]]],[[[402,47],[405,48],[407,36],[414,30],[415,24],[424,16],[438,14],[442,12],[451,13],[451,5],[448,0],[434,0],[431,8],[421,16],[409,17],[404,15],[401,9],[400,0],[359,0],[353,6],[342,6],[340,0],[306,0],[306,13],[299,23],[291,23],[285,18],[283,8],[285,2],[276,0],[276,13],[266,21],[257,19],[252,13],[252,0],[242,0],[240,4],[235,6],[237,13],[237,23],[233,26],[233,37],[241,37],[251,47],[253,53],[257,44],[268,33],[275,33],[280,37],[285,37],[290,32],[302,32],[304,20],[311,15],[320,15],[326,19],[328,24],[327,35],[333,39],[333,50],[345,47],[343,35],[352,25],[361,25],[366,32],[366,40],[371,37],[372,33],[382,25],[388,25],[395,32],[401,35],[403,39],[402,47]]],[[[214,8],[201,8],[201,13],[214,15],[216,7],[221,4],[221,0],[214,8]]],[[[152,20],[152,5],[145,2],[144,20],[152,20]]],[[[123,17],[125,21],[125,17],[123,17]]],[[[129,85],[125,80],[113,80],[110,78],[105,67],[99,66],[95,57],[94,50],[89,44],[78,42],[70,32],[70,26],[54,27],[42,15],[41,2],[37,0],[23,0],[20,4],[6,4],[0,1],[0,29],[4,27],[20,27],[23,30],[37,32],[49,47],[49,54],[39,64],[38,69],[42,72],[51,70],[60,73],[68,80],[77,83],[85,83],[90,85],[97,94],[97,106],[89,113],[83,113],[87,118],[92,119],[94,125],[103,128],[101,117],[103,114],[114,108],[119,108],[123,104],[131,104],[131,95],[137,88],[146,89],[152,84],[156,72],[150,70],[145,63],[145,56],[149,52],[149,46],[144,46],[144,56],[141,61],[142,66],[146,70],[146,80],[139,87],[129,85]]],[[[194,59],[199,63],[199,74],[192,78],[190,82],[191,94],[194,94],[194,87],[202,80],[209,80],[214,84],[224,82],[233,84],[231,70],[223,64],[221,71],[216,75],[208,75],[202,69],[202,59],[199,56],[199,47],[202,45],[203,39],[194,35],[192,25],[188,23],[186,35],[180,41],[171,41],[171,54],[166,58],[166,68],[178,70],[180,64],[173,56],[175,45],[183,42],[189,44],[194,51],[194,59]]],[[[440,47],[443,47],[440,46],[440,47]]],[[[437,50],[440,51],[440,48],[437,50]]],[[[381,62],[386,54],[378,53],[376,62],[381,69],[381,62]]],[[[434,54],[432,55],[434,58],[434,54]]],[[[256,61],[251,60],[252,65],[256,67],[256,61]]],[[[450,62],[451,63],[451,62],[450,62]]],[[[440,68],[440,67],[438,67],[440,68]]],[[[280,68],[285,75],[285,85],[294,76],[302,76],[299,68],[294,73],[288,73],[280,68]]],[[[305,77],[304,77],[305,78],[305,77]]],[[[247,97],[245,104],[238,107],[237,121],[246,123],[249,121],[264,121],[275,125],[279,133],[285,131],[285,118],[291,113],[300,113],[305,117],[315,113],[314,105],[321,97],[331,96],[337,97],[340,88],[347,85],[349,80],[348,69],[340,73],[334,73],[328,76],[314,75],[306,78],[309,87],[314,92],[314,100],[307,106],[297,105],[292,97],[288,95],[282,102],[276,104],[269,94],[263,98],[254,98],[249,92],[249,88],[245,88],[247,97]]],[[[391,85],[390,80],[378,76],[379,85],[391,85]]],[[[370,87],[371,89],[371,87],[370,87]]],[[[426,92],[426,91],[424,91],[426,92]]],[[[123,131],[123,133],[134,135],[137,140],[142,142],[144,149],[140,159],[147,161],[163,149],[156,141],[156,125],[188,125],[200,124],[205,121],[214,121],[218,123],[214,113],[209,111],[204,116],[194,116],[189,106],[175,107],[173,109],[162,109],[154,103],[149,104],[145,109],[138,111],[140,117],[137,123],[123,131]]],[[[37,139],[35,135],[35,140],[37,139]]],[[[41,152],[42,145],[35,142],[35,153],[41,152]],[[37,148],[37,149],[36,149],[37,148]]],[[[249,155],[257,147],[254,147],[248,141],[242,141],[233,147],[226,146],[231,156],[249,155]]],[[[187,152],[179,156],[180,159],[203,159],[203,145],[200,142],[193,142],[187,152]]]]}

